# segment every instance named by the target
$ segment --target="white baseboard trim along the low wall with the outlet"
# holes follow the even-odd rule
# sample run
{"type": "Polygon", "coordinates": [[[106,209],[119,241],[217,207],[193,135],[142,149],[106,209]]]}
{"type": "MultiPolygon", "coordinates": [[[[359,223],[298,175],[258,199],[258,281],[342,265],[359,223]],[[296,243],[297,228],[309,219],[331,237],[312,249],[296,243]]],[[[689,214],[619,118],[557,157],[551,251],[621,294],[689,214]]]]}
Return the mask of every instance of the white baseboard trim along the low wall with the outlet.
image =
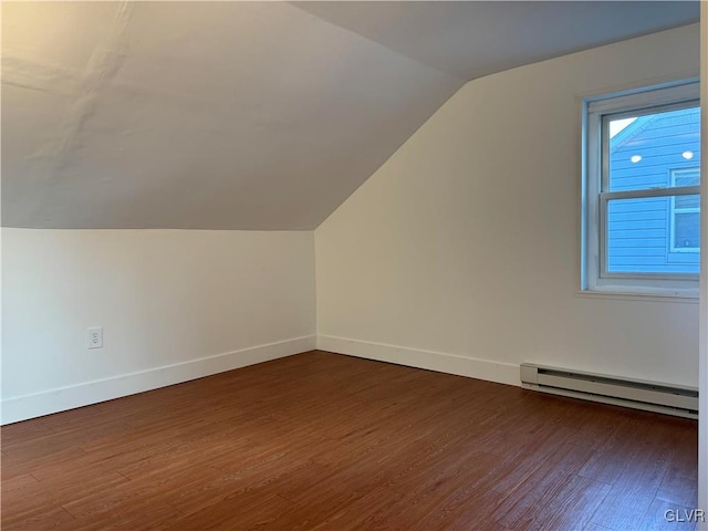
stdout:
{"type": "Polygon", "coordinates": [[[314,335],[296,337],[199,360],[190,360],[174,365],[122,374],[111,378],[49,389],[42,393],[4,398],[2,400],[1,424],[6,425],[41,417],[158,387],[180,384],[247,365],[300,354],[314,350],[315,344],[316,339],[314,335]]]}

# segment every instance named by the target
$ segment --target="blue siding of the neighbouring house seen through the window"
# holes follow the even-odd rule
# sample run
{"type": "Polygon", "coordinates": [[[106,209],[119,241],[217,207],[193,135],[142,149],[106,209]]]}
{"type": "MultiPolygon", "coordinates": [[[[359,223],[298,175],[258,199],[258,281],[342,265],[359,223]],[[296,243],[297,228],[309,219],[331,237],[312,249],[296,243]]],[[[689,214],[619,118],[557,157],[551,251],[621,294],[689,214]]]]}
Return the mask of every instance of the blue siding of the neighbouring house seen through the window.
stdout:
{"type": "MultiPolygon", "coordinates": [[[[698,108],[637,118],[610,140],[610,190],[671,186],[673,171],[700,165],[699,134],[698,108]],[[684,152],[693,152],[693,158],[684,152]],[[633,163],[633,156],[642,158],[633,163]]],[[[610,201],[608,271],[697,273],[698,252],[671,249],[671,230],[669,198],[610,201]]]]}

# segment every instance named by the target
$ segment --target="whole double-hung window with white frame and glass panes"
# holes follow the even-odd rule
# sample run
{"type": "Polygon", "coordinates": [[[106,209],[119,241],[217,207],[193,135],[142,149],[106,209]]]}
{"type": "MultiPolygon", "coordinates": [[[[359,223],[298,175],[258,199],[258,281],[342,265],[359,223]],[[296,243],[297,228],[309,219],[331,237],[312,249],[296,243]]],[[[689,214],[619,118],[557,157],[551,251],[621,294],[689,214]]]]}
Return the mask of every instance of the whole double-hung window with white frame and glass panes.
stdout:
{"type": "Polygon", "coordinates": [[[680,295],[698,288],[698,83],[585,102],[587,291],[680,295]]]}

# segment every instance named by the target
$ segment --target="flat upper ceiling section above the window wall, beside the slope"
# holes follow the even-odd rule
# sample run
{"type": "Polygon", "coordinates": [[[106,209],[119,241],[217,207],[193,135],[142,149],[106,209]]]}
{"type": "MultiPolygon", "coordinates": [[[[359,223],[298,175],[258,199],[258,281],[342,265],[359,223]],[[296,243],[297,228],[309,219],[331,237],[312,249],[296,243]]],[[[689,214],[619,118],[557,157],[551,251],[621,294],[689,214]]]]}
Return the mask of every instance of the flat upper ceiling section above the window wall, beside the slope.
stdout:
{"type": "Polygon", "coordinates": [[[293,2],[469,81],[698,21],[698,2],[293,2]]]}

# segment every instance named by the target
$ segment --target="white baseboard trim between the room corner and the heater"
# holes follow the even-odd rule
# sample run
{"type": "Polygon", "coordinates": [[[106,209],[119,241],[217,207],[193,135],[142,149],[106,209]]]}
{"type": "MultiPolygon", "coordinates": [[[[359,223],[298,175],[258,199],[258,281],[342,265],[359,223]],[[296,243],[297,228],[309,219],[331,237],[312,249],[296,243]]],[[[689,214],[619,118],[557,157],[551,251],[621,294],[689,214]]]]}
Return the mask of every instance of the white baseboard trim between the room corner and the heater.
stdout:
{"type": "Polygon", "coordinates": [[[498,363],[442,352],[421,351],[331,335],[317,335],[317,348],[378,362],[469,376],[499,384],[516,385],[517,387],[521,386],[520,367],[511,363],[498,363]]]}

